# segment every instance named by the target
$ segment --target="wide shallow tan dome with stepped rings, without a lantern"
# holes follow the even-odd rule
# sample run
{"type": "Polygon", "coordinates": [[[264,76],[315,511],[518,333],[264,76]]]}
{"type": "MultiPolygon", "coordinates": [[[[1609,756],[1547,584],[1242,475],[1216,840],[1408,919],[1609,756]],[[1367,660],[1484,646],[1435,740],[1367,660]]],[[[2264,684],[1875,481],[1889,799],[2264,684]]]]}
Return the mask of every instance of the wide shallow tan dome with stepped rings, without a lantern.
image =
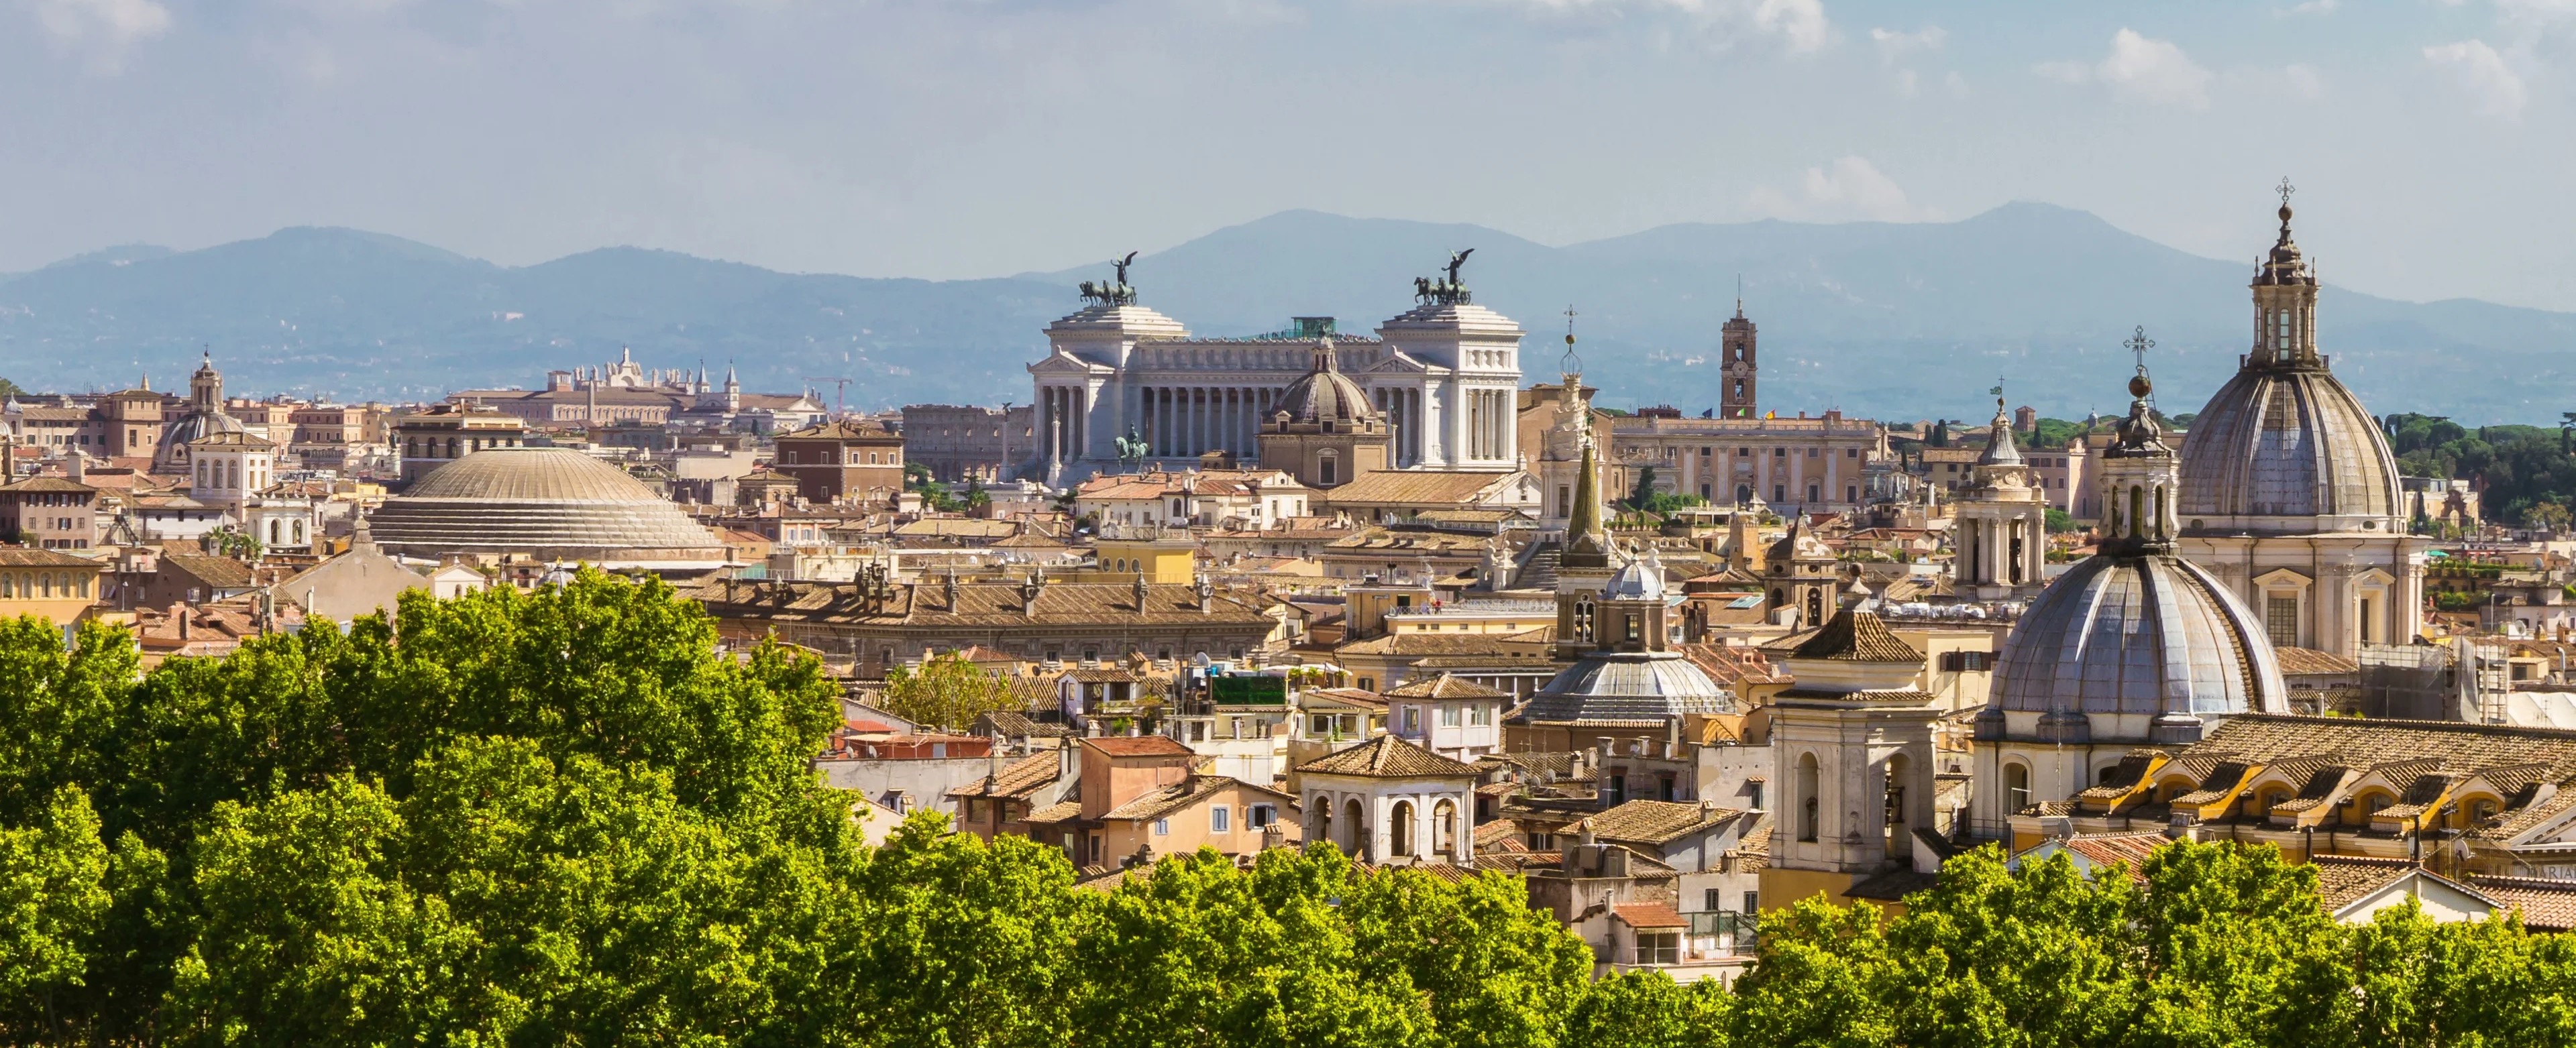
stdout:
{"type": "Polygon", "coordinates": [[[410,556],[716,566],[724,543],[626,471],[572,448],[484,448],[438,466],[374,518],[410,556]]]}

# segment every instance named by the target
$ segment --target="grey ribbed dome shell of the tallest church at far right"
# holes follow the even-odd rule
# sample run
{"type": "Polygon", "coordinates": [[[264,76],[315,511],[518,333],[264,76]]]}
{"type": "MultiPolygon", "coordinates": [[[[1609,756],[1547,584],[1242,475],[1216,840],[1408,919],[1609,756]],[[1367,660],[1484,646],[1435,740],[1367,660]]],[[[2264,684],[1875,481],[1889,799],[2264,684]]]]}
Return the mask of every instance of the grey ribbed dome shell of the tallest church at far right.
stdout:
{"type": "Polygon", "coordinates": [[[2324,363],[2246,363],[2182,440],[2182,530],[2360,530],[2398,515],[2398,463],[2324,363]],[[2344,520],[2215,520],[2344,518],[2344,520]]]}

